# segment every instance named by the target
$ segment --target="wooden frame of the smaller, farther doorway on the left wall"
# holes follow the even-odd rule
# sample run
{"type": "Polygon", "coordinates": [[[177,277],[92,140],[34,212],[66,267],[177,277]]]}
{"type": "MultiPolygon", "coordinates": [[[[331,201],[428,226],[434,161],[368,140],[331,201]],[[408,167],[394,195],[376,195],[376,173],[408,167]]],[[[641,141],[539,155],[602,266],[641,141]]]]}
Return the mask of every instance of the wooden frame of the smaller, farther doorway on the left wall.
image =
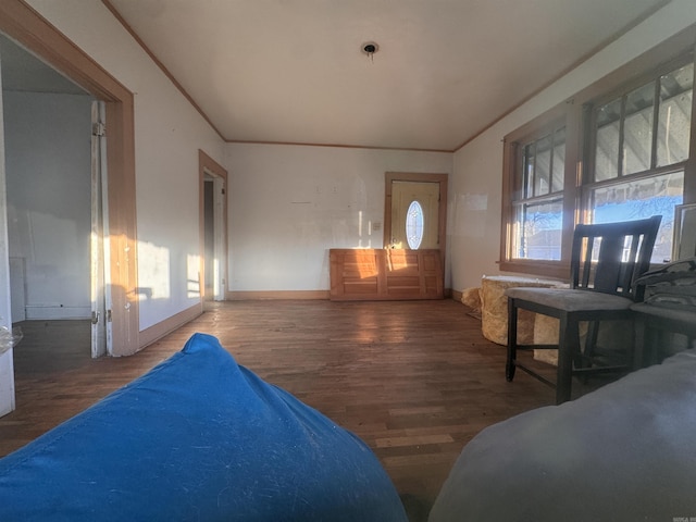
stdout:
{"type": "Polygon", "coordinates": [[[215,192],[217,189],[222,190],[222,194],[217,192],[213,195],[213,204],[222,203],[222,212],[215,209],[215,257],[220,258],[220,272],[213,288],[219,287],[217,291],[214,291],[213,299],[216,301],[223,301],[226,299],[227,294],[227,171],[210,156],[198,149],[198,177],[199,177],[199,251],[200,251],[200,269],[199,269],[199,288],[201,304],[206,300],[206,176],[213,178],[213,187],[215,192]]]}

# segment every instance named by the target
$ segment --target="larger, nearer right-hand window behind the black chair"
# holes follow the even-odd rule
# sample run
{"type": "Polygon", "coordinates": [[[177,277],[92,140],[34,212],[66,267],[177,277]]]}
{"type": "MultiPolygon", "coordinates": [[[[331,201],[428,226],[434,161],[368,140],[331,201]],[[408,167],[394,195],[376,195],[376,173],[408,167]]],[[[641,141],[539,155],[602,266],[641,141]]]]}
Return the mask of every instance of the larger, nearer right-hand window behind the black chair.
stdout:
{"type": "Polygon", "coordinates": [[[683,202],[694,64],[670,70],[592,107],[594,163],[583,184],[586,221],[662,215],[652,262],[669,261],[674,207],[683,202]]]}

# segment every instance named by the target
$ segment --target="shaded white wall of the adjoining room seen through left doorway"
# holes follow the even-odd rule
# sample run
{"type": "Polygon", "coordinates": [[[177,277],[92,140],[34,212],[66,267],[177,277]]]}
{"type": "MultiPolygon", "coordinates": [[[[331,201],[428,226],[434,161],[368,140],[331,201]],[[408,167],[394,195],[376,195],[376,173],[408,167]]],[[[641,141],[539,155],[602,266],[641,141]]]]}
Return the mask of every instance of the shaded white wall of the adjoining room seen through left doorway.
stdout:
{"type": "Polygon", "coordinates": [[[26,319],[87,319],[91,98],[5,91],[3,101],[10,257],[26,271],[26,319]]]}

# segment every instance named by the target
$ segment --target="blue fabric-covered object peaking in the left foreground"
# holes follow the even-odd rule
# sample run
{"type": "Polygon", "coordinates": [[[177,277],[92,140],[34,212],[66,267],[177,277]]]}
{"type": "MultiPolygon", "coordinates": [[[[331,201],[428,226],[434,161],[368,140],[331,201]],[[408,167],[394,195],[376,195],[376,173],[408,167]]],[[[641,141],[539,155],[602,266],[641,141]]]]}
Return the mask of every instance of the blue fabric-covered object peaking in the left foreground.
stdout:
{"type": "Polygon", "coordinates": [[[406,521],[353,434],[209,335],[0,460],[0,521],[406,521]]]}

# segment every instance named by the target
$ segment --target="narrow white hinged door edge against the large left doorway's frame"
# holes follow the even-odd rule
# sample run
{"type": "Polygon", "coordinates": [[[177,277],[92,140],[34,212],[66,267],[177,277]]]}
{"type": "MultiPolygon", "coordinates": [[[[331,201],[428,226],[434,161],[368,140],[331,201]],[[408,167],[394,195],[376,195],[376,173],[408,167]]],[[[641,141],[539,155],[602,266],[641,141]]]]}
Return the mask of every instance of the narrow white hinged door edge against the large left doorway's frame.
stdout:
{"type": "Polygon", "coordinates": [[[112,353],[104,103],[91,104],[91,357],[112,353]]]}

